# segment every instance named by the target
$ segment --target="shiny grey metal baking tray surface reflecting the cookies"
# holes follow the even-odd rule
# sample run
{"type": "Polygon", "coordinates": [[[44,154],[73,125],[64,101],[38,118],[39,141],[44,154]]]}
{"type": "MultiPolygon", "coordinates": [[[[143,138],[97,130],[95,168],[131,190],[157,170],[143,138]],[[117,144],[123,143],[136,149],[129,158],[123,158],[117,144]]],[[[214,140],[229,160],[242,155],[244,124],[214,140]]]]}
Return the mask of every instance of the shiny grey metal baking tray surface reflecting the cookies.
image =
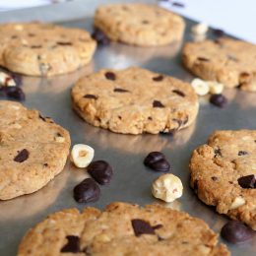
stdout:
{"type": "MultiPolygon", "coordinates": [[[[92,23],[92,17],[88,17],[62,25],[92,31],[92,23]]],[[[189,31],[194,22],[186,20],[186,24],[184,39],[191,40],[189,31]]],[[[210,105],[207,97],[201,97],[196,122],[174,136],[114,134],[87,124],[71,107],[70,89],[74,83],[79,77],[101,68],[141,66],[190,82],[193,76],[181,65],[181,46],[172,44],[142,48],[111,43],[98,48],[92,63],[75,73],[50,79],[23,78],[23,89],[27,96],[24,104],[40,110],[44,116],[51,116],[69,130],[72,145],[85,143],[95,148],[95,160],[107,160],[113,167],[114,176],[109,185],[100,187],[101,196],[96,203],[77,204],[72,196],[73,188],[87,174],[85,170],[75,168],[68,160],[65,169],[38,192],[0,202],[0,255],[16,255],[18,244],[26,231],[50,213],[72,207],[83,209],[93,206],[103,209],[113,201],[142,206],[158,203],[173,207],[203,219],[216,232],[220,232],[227,219],[201,203],[189,187],[189,159],[192,151],[204,144],[217,129],[255,129],[256,94],[225,90],[228,104],[224,109],[210,105]],[[163,152],[171,164],[171,172],[182,180],[183,196],[172,204],[163,204],[151,194],[152,182],[160,173],[145,167],[143,160],[152,151],[163,152]]],[[[256,238],[239,246],[227,245],[232,255],[256,253],[256,238]]]]}

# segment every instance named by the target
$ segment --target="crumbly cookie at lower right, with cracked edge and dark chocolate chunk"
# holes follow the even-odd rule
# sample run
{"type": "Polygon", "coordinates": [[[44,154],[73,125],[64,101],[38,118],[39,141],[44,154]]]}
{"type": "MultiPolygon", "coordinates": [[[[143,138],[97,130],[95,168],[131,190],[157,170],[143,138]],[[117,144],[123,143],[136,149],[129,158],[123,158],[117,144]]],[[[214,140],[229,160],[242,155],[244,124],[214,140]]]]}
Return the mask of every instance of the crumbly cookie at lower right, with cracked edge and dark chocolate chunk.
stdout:
{"type": "Polygon", "coordinates": [[[190,172],[199,199],[256,230],[256,130],[215,132],[194,151],[190,172]]]}

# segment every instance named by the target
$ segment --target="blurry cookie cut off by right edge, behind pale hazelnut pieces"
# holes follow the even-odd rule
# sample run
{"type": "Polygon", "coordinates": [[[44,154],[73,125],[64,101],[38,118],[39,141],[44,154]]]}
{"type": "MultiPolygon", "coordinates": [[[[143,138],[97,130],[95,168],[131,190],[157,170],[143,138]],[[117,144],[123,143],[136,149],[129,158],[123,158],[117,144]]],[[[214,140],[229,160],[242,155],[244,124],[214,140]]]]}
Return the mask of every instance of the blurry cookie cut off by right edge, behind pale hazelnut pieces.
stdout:
{"type": "Polygon", "coordinates": [[[255,44],[230,38],[188,42],[183,48],[183,63],[193,74],[249,92],[256,92],[255,58],[255,44]]]}

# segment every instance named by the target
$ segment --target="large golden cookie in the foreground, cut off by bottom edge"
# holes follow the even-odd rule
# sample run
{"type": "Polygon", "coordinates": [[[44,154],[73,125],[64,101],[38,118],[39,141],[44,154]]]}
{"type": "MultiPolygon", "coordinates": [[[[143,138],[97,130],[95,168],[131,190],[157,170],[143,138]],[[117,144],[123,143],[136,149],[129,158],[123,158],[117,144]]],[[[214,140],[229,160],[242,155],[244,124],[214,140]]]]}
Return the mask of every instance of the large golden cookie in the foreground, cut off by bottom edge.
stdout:
{"type": "Polygon", "coordinates": [[[229,255],[203,221],[186,213],[149,205],[111,203],[50,215],[19,246],[26,255],[229,255]],[[75,254],[76,253],[76,254],[75,254]]]}

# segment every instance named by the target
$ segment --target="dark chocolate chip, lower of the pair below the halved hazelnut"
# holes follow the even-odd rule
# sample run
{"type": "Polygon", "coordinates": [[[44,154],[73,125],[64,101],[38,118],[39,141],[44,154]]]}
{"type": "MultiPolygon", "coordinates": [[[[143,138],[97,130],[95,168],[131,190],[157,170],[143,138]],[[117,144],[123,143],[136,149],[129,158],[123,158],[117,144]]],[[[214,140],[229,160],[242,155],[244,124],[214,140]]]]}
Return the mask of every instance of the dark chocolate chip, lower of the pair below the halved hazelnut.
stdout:
{"type": "Polygon", "coordinates": [[[78,203],[95,202],[99,195],[100,189],[92,178],[86,178],[74,188],[74,199],[78,203]]]}

